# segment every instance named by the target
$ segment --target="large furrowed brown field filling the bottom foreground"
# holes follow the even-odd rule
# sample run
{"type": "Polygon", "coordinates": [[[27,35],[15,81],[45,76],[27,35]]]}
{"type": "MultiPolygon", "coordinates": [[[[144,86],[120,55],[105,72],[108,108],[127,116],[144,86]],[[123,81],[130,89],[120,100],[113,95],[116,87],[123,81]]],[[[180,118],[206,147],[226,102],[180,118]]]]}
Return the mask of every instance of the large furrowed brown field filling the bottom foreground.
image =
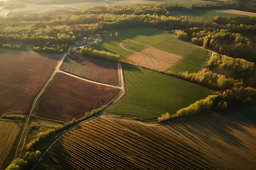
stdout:
{"type": "Polygon", "coordinates": [[[255,132],[237,113],[161,126],[101,117],[65,134],[36,169],[254,169],[255,132]]]}

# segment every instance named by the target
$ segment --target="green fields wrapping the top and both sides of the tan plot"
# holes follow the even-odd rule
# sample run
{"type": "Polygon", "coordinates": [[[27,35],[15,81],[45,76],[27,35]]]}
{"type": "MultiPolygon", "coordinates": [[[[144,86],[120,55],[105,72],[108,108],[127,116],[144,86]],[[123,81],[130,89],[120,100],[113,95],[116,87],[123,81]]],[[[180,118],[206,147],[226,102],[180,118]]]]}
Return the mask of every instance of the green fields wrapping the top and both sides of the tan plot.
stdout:
{"type": "Polygon", "coordinates": [[[174,73],[184,71],[193,73],[200,70],[205,59],[211,54],[207,50],[186,44],[177,40],[169,33],[153,28],[137,27],[119,29],[117,31],[102,33],[102,37],[103,42],[97,46],[97,49],[120,54],[122,58],[130,56],[134,52],[146,49],[148,46],[183,56],[184,58],[182,58],[176,66],[168,69],[174,73]],[[115,32],[118,32],[118,37],[114,36],[115,32]],[[113,37],[110,37],[110,34],[112,34],[113,37]]]}

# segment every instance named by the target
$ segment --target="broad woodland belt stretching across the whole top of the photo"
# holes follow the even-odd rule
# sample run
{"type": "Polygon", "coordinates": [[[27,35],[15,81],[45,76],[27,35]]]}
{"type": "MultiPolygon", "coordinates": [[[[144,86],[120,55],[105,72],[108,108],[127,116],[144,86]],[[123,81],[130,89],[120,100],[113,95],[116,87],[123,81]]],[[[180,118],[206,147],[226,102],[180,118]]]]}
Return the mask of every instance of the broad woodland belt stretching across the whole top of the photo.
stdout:
{"type": "MultiPolygon", "coordinates": [[[[233,2],[229,2],[232,3],[233,2]]],[[[64,14],[31,14],[0,18],[0,46],[16,48],[15,41],[35,44],[35,50],[63,53],[81,37],[104,30],[127,27],[182,29],[180,39],[231,57],[255,61],[255,17],[216,17],[210,22],[186,16],[171,16],[174,10],[238,8],[226,3],[168,3],[98,6],[64,14]],[[46,45],[48,43],[48,45],[46,45]],[[56,45],[52,47],[51,45],[56,45]]]]}

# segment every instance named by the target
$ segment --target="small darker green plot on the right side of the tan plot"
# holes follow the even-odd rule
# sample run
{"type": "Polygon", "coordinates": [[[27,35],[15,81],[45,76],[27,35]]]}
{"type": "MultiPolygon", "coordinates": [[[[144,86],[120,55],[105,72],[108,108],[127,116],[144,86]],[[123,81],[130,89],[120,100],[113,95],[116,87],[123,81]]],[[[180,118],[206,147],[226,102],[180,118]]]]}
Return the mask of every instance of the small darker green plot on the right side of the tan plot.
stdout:
{"type": "Polygon", "coordinates": [[[181,58],[179,63],[168,70],[174,73],[183,73],[185,71],[188,71],[188,73],[195,73],[202,68],[203,63],[205,63],[204,61],[209,59],[210,54],[212,54],[212,52],[208,52],[201,48],[195,48],[185,57],[181,58]]]}

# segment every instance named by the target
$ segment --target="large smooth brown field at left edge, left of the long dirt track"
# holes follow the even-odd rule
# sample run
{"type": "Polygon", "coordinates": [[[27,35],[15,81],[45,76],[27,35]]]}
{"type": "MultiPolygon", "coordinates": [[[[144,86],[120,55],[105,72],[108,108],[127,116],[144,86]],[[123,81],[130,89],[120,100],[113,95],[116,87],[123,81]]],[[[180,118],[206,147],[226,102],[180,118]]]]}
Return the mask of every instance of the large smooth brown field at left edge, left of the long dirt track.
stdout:
{"type": "Polygon", "coordinates": [[[26,113],[60,54],[0,50],[0,114],[26,113]]]}

